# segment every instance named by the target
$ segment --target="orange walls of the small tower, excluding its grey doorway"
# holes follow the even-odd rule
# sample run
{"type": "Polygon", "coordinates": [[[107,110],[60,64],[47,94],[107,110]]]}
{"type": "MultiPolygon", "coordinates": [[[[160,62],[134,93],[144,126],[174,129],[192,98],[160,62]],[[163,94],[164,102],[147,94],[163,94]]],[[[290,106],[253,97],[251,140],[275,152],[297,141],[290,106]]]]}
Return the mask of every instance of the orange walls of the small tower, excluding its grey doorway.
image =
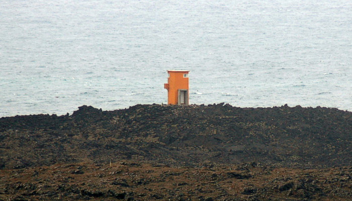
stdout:
{"type": "MultiPolygon", "coordinates": [[[[188,74],[189,71],[167,71],[167,73],[169,74],[169,77],[167,78],[167,104],[177,105],[178,90],[189,89],[188,77],[184,78],[184,74],[188,74]]],[[[166,87],[164,86],[164,88],[166,87]]],[[[189,97],[189,93],[187,94],[187,97],[189,97]]]]}

